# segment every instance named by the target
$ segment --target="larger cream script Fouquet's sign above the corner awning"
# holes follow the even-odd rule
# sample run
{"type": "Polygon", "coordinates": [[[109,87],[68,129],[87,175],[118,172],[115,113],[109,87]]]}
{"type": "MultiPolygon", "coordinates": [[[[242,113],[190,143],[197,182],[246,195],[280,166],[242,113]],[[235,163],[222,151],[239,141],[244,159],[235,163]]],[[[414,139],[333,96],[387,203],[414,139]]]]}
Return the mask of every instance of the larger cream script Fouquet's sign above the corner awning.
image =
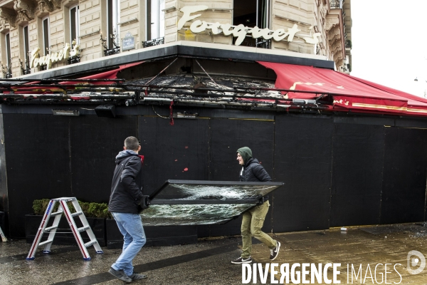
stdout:
{"type": "MultiPolygon", "coordinates": [[[[187,21],[194,20],[201,16],[201,14],[191,15],[192,13],[204,11],[206,9],[209,9],[209,7],[205,5],[182,7],[180,11],[184,13],[184,15],[182,15],[181,19],[178,21],[178,30],[184,27],[184,24],[186,24],[187,21]]],[[[277,30],[272,31],[269,28],[258,28],[257,26],[249,28],[247,26],[243,26],[243,24],[232,26],[231,24],[219,24],[218,22],[208,23],[200,20],[194,21],[190,26],[190,31],[193,33],[201,33],[206,29],[210,29],[211,33],[214,35],[218,35],[219,33],[223,33],[224,36],[233,35],[236,37],[236,46],[243,42],[248,33],[251,33],[253,38],[264,38],[266,40],[273,38],[275,41],[283,41],[287,38],[287,41],[291,42],[295,34],[301,31],[297,24],[294,24],[292,28],[288,28],[288,31],[285,31],[283,28],[278,28],[277,30]]],[[[302,38],[304,38],[306,43],[316,44],[319,43],[319,39],[317,38],[318,36],[320,36],[320,33],[314,33],[312,36],[307,35],[302,38]]]]}

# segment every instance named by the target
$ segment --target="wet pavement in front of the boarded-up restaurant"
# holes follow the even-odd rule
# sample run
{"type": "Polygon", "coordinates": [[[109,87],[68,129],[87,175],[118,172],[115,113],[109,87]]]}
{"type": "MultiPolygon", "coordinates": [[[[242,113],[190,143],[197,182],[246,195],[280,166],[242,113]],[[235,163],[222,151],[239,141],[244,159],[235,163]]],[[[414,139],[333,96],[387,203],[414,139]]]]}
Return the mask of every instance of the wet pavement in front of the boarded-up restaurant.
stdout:
{"type": "MultiPolygon", "coordinates": [[[[273,234],[282,244],[280,254],[274,261],[279,267],[275,267],[275,270],[279,272],[275,274],[273,282],[282,277],[281,264],[289,264],[288,275],[295,278],[294,283],[302,282],[302,264],[306,263],[315,266],[331,264],[327,269],[326,280],[332,280],[332,264],[335,264],[339,271],[336,278],[340,284],[427,284],[427,268],[419,274],[410,274],[407,270],[408,252],[416,250],[423,257],[427,256],[426,226],[396,224],[354,227],[347,229],[347,232],[329,229],[273,234]],[[389,264],[387,269],[385,264],[389,264]],[[295,272],[291,272],[292,265],[295,272]]],[[[134,265],[135,271],[144,272],[148,278],[133,283],[242,284],[242,266],[230,263],[231,259],[239,256],[240,244],[241,239],[238,237],[228,237],[201,239],[198,244],[143,248],[134,259],[134,265]]],[[[53,245],[51,254],[42,254],[39,248],[36,259],[26,261],[30,247],[31,244],[27,244],[25,240],[0,242],[1,285],[124,284],[107,273],[120,254],[120,249],[103,248],[104,254],[96,254],[90,247],[92,260],[83,261],[78,247],[53,245]]],[[[263,244],[254,244],[253,259],[258,262],[257,269],[265,270],[266,264],[270,265],[269,254],[268,248],[263,244]]],[[[417,269],[421,264],[421,257],[411,256],[411,261],[417,261],[416,259],[418,264],[412,264],[411,269],[417,269]]],[[[307,270],[305,279],[311,283],[310,266],[307,270]]],[[[272,284],[270,267],[267,274],[265,284],[272,284]]],[[[263,274],[259,275],[257,271],[256,276],[256,284],[262,284],[260,278],[263,274]]],[[[285,276],[283,277],[283,281],[286,281],[285,276]]],[[[248,275],[245,278],[248,279],[248,275]]],[[[248,281],[253,284],[253,275],[248,281]]],[[[314,284],[320,284],[317,279],[313,281],[314,284]]],[[[291,278],[289,283],[292,283],[291,278]]],[[[325,284],[325,279],[322,279],[322,284],[325,284]]]]}

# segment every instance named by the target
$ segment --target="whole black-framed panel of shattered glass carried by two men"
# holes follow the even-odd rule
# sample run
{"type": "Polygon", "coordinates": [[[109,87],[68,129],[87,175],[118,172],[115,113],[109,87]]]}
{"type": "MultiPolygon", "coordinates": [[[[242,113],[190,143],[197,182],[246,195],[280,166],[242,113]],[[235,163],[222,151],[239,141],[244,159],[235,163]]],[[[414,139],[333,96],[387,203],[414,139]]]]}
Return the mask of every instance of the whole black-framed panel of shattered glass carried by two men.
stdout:
{"type": "Polygon", "coordinates": [[[260,202],[283,182],[167,180],[141,213],[146,225],[223,224],[260,202]]]}

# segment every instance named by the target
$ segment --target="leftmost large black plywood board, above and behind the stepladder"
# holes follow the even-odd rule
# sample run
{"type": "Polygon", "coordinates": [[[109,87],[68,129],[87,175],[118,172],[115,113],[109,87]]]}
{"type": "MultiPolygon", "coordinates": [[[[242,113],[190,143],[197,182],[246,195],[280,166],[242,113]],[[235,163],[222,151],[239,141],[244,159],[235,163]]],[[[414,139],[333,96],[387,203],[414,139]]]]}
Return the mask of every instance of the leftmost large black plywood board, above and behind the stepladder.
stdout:
{"type": "Polygon", "coordinates": [[[68,129],[74,118],[4,114],[11,237],[25,237],[34,199],[73,196],[68,129]]]}

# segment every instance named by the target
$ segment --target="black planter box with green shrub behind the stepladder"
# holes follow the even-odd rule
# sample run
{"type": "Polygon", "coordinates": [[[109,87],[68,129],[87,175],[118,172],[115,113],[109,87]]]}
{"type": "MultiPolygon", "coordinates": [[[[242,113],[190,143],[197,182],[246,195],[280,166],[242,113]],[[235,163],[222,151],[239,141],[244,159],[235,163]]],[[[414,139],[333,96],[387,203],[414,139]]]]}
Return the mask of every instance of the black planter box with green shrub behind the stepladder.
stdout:
{"type": "MultiPolygon", "coordinates": [[[[43,216],[34,215],[34,214],[26,214],[25,216],[25,235],[26,235],[26,242],[29,244],[32,244],[37,231],[38,227],[40,227],[41,219],[43,216]]],[[[51,226],[53,223],[54,217],[51,217],[48,222],[48,227],[51,226]]],[[[90,227],[92,228],[93,234],[95,234],[95,237],[97,239],[97,242],[100,244],[101,247],[106,246],[106,239],[105,239],[105,218],[86,218],[88,219],[88,223],[90,227]]],[[[74,219],[75,224],[77,227],[83,227],[82,223],[80,222],[80,219],[75,218],[74,219]]],[[[43,234],[43,238],[41,241],[45,241],[48,237],[48,232],[43,234]]],[[[80,233],[83,242],[89,242],[88,234],[85,232],[80,233]]],[[[73,233],[71,232],[70,226],[68,225],[67,219],[65,217],[60,218],[59,226],[55,234],[55,238],[53,239],[53,244],[69,244],[69,245],[77,245],[77,242],[75,241],[75,237],[73,233]],[[66,232],[66,233],[63,233],[66,232]]]]}

